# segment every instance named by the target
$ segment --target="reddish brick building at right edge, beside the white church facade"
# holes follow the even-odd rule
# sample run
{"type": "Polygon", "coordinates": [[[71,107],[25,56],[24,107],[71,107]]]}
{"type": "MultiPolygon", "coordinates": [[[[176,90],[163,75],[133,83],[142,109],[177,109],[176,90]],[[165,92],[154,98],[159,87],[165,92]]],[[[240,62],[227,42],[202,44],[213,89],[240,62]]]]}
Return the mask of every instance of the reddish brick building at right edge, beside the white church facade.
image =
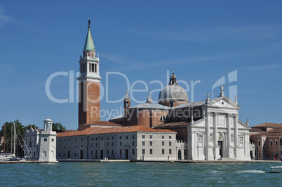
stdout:
{"type": "Polygon", "coordinates": [[[255,160],[281,160],[282,124],[262,123],[250,130],[250,141],[255,144],[255,160]]]}

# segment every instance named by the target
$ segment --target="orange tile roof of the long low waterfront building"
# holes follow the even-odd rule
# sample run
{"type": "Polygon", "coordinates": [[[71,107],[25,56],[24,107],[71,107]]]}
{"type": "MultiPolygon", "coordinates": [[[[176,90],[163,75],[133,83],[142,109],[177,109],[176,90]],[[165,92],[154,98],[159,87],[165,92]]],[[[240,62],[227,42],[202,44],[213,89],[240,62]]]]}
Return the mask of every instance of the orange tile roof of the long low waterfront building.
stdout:
{"type": "Polygon", "coordinates": [[[90,127],[86,130],[61,132],[58,133],[57,137],[72,137],[81,136],[87,134],[106,134],[106,133],[119,133],[119,132],[173,132],[171,130],[156,130],[150,127],[142,125],[126,126],[126,127],[112,127],[112,128],[101,128],[101,127],[90,127]]]}

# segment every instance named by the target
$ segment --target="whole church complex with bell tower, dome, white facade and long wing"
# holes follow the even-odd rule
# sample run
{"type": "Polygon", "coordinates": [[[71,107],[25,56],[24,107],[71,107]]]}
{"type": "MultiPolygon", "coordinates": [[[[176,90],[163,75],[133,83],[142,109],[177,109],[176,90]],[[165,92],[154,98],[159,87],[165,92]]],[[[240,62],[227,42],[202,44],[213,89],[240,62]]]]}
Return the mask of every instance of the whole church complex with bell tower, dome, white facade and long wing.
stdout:
{"type": "Polygon", "coordinates": [[[173,72],[157,103],[150,95],[123,115],[100,121],[100,60],[88,22],[79,59],[79,130],[58,133],[57,158],[129,160],[250,160],[248,124],[239,120],[239,106],[224,95],[189,102],[173,72]]]}

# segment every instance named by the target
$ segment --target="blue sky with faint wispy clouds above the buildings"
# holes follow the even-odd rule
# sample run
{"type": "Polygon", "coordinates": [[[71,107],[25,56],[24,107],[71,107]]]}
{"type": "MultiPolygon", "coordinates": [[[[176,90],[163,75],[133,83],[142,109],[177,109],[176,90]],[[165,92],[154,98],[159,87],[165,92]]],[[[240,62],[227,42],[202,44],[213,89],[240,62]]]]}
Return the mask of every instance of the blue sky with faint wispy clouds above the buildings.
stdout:
{"type": "Polygon", "coordinates": [[[238,95],[243,122],[282,123],[281,10],[282,1],[1,1],[0,125],[19,119],[42,128],[51,118],[76,130],[76,72],[88,20],[105,88],[101,120],[123,112],[123,102],[113,101],[128,84],[142,90],[130,92],[131,106],[145,102],[149,90],[156,102],[159,82],[166,86],[174,69],[190,102],[208,92],[217,97],[224,80],[225,95],[238,95]],[[68,76],[52,79],[51,94],[69,102],[46,95],[56,72],[68,76]]]}

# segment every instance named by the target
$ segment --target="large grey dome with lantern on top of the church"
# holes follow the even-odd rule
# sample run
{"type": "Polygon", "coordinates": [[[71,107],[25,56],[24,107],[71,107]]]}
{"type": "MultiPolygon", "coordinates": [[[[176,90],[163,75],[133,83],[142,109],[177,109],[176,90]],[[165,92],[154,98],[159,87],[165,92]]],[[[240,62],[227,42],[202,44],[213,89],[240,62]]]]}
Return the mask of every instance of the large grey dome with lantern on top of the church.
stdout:
{"type": "Polygon", "coordinates": [[[170,82],[168,86],[163,88],[159,93],[160,102],[189,102],[188,94],[176,81],[176,76],[173,71],[173,75],[170,76],[170,82]]]}

